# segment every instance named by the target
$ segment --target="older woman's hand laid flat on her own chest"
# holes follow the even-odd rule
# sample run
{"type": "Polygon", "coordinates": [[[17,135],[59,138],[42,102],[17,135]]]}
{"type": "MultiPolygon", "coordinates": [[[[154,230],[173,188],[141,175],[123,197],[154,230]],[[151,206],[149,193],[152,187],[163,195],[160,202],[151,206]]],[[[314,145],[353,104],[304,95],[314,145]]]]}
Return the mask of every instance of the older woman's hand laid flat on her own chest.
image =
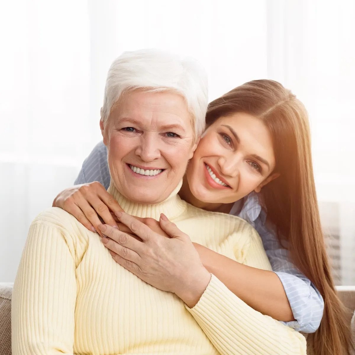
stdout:
{"type": "Polygon", "coordinates": [[[114,260],[144,282],[163,291],[175,293],[190,308],[195,306],[206,289],[211,274],[203,266],[189,236],[162,215],[159,224],[167,238],[126,213],[117,214],[139,241],[110,225],[98,228],[114,260]]]}

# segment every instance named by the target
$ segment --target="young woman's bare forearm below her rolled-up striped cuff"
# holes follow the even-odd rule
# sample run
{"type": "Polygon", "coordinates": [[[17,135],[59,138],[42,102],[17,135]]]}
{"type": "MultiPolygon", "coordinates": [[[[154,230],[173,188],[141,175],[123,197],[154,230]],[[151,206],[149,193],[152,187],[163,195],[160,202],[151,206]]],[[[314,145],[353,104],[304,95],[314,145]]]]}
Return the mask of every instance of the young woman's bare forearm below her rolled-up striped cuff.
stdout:
{"type": "Polygon", "coordinates": [[[274,272],[243,265],[201,245],[196,249],[204,267],[246,304],[276,320],[294,320],[283,285],[274,272]]]}

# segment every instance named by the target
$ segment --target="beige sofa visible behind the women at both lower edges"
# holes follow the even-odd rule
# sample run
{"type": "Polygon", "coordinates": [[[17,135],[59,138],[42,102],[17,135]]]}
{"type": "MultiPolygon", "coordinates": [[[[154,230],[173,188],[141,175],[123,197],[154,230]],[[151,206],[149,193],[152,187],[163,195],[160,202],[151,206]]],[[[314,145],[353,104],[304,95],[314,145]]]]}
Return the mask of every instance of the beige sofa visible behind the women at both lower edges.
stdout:
{"type": "MultiPolygon", "coordinates": [[[[349,324],[351,322],[353,335],[351,351],[355,355],[355,286],[337,286],[337,291],[347,308],[347,321],[349,324]]],[[[11,355],[11,295],[12,284],[0,283],[0,355],[11,355]]],[[[311,348],[311,346],[308,346],[308,348],[311,348]]],[[[307,354],[312,355],[310,351],[307,351],[307,354]]]]}

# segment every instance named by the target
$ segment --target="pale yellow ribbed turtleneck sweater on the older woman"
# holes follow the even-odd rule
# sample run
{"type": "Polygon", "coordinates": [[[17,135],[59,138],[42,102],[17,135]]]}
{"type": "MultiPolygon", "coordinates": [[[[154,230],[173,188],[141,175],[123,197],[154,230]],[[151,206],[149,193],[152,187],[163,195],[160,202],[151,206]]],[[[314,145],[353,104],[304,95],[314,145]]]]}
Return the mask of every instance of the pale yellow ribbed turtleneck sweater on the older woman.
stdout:
{"type": "MultiPolygon", "coordinates": [[[[244,220],[182,201],[157,205],[109,192],[127,213],[163,212],[191,240],[241,263],[270,269],[244,220]]],[[[253,310],[217,277],[192,309],[117,264],[97,234],[50,208],[33,221],[12,296],[13,355],[306,354],[304,337],[253,310]]]]}

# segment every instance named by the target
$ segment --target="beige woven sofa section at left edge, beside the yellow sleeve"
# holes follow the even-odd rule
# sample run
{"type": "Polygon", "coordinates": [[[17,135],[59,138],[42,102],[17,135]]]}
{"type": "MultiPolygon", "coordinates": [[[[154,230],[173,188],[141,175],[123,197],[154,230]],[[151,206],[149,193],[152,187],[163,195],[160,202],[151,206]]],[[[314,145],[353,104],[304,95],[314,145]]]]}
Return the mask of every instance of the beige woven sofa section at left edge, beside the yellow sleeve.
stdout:
{"type": "Polygon", "coordinates": [[[0,354],[11,355],[11,284],[0,284],[0,354]]]}

